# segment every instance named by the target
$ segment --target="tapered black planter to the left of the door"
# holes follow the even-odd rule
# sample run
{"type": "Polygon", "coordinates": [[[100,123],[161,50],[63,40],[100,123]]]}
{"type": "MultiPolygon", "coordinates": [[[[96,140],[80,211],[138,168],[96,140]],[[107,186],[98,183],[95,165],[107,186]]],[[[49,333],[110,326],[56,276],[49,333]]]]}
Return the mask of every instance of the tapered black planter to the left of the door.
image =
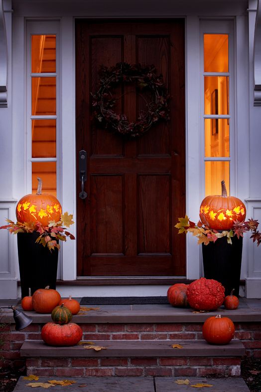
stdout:
{"type": "Polygon", "coordinates": [[[18,260],[22,298],[31,288],[35,290],[50,286],[56,288],[58,249],[50,252],[47,246],[36,243],[39,233],[17,233],[18,260]]]}

